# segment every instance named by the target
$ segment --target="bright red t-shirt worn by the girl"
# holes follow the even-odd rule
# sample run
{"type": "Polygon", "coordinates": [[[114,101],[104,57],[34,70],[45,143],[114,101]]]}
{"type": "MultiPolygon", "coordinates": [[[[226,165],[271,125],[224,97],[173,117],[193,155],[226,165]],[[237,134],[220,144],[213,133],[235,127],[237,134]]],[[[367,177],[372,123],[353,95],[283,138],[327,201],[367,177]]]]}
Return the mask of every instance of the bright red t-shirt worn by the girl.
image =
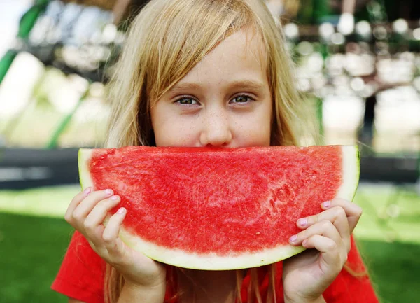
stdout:
{"type": "MultiPolygon", "coordinates": [[[[351,238],[351,251],[348,264],[356,272],[363,272],[365,267],[351,238]]],[[[278,262],[276,274],[276,299],[283,303],[283,263],[278,262]]],[[[75,232],[67,253],[51,288],[58,293],[86,303],[104,303],[104,272],[106,263],[95,253],[79,232],[75,232]]],[[[260,280],[260,293],[265,298],[268,288],[268,276],[265,267],[260,267],[258,272],[260,280]]],[[[241,287],[242,300],[247,297],[249,274],[245,277],[241,287]]],[[[167,293],[167,299],[171,297],[167,293]]],[[[365,276],[358,278],[346,270],[337,276],[330,287],[325,290],[323,297],[327,303],[378,303],[377,297],[365,276]]],[[[169,300],[165,301],[169,302],[169,300]]]]}

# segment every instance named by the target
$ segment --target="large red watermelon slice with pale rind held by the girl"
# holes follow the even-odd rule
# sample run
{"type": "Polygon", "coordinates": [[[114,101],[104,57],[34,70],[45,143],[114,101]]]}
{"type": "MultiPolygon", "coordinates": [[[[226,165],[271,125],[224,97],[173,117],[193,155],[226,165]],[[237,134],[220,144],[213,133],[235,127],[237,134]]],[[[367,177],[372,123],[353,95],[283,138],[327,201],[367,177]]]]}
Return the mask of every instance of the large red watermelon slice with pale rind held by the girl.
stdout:
{"type": "MultiPolygon", "coordinates": [[[[352,200],[356,146],[80,149],[82,188],[111,188],[127,209],[120,232],[149,258],[191,269],[267,265],[321,202],[352,200]]],[[[110,213],[110,214],[111,214],[110,213]]]]}

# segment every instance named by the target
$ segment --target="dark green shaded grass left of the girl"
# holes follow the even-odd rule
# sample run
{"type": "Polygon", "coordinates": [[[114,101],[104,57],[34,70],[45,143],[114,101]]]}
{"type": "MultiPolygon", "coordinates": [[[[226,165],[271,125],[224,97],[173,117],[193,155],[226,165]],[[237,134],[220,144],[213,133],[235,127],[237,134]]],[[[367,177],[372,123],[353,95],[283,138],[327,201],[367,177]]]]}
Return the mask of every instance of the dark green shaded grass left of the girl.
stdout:
{"type": "Polygon", "coordinates": [[[0,213],[0,302],[66,302],[50,284],[71,230],[62,219],[0,213]]]}

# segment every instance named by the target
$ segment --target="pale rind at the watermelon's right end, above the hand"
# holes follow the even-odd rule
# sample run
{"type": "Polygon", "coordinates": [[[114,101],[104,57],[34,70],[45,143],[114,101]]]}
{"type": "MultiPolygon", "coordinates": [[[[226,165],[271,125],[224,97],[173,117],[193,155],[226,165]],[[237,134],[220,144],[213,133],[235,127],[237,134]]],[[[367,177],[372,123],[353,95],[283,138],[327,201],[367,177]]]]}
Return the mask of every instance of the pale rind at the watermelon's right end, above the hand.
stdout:
{"type": "Polygon", "coordinates": [[[357,146],[341,146],[343,183],[337,191],[337,198],[353,201],[360,177],[360,157],[357,146]]]}

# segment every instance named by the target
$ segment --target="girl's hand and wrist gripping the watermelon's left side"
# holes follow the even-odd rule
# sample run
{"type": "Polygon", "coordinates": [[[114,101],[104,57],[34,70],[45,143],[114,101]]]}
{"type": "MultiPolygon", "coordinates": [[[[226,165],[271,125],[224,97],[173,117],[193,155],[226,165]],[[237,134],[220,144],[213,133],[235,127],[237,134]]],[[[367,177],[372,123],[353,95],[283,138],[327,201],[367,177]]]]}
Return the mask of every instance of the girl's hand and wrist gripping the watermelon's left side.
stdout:
{"type": "Polygon", "coordinates": [[[102,259],[123,274],[125,283],[134,288],[162,291],[165,296],[165,266],[132,250],[118,236],[126,209],[120,208],[113,214],[106,227],[103,224],[108,212],[119,202],[120,197],[113,195],[112,190],[86,188],[71,200],[64,218],[85,236],[102,259]]]}

